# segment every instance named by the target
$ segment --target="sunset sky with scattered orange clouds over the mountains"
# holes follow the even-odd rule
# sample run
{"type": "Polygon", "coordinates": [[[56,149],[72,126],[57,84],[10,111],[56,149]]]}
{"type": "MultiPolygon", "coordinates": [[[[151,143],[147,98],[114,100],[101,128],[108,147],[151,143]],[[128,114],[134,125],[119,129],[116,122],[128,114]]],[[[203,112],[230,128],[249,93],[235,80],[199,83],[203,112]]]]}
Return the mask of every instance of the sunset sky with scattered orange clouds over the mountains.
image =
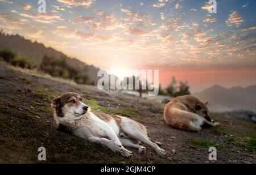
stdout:
{"type": "MultiPolygon", "coordinates": [[[[0,28],[110,70],[158,69],[192,92],[256,84],[256,1],[0,0],[0,28]]],[[[117,76],[124,76],[120,71],[117,76]]]]}

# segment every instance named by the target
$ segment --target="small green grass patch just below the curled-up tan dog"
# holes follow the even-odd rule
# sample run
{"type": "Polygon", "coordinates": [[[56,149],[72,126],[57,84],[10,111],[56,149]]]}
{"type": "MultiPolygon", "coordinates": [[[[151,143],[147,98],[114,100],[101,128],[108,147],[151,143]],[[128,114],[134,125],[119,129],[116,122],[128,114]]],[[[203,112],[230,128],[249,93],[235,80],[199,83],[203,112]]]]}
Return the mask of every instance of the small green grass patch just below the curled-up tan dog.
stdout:
{"type": "Polygon", "coordinates": [[[187,147],[207,151],[210,147],[216,147],[218,150],[221,150],[223,148],[220,144],[217,144],[216,142],[214,142],[214,140],[210,139],[188,139],[187,147]]]}

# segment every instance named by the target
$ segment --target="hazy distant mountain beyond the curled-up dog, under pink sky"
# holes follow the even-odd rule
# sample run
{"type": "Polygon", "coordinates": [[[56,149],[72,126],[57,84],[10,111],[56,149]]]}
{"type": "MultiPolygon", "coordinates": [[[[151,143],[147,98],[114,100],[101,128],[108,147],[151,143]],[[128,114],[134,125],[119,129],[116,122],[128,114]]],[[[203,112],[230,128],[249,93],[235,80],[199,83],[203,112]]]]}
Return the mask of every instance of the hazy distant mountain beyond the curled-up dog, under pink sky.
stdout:
{"type": "Polygon", "coordinates": [[[256,85],[245,88],[214,85],[194,95],[203,101],[209,101],[209,108],[215,112],[228,110],[256,112],[256,85]]]}

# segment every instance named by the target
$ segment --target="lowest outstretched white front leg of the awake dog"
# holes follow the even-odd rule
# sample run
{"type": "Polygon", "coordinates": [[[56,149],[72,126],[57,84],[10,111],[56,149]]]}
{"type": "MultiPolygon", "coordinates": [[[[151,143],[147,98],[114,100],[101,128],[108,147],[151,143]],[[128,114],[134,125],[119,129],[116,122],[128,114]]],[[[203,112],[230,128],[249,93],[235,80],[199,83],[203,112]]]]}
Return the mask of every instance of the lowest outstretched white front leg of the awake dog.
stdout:
{"type": "Polygon", "coordinates": [[[115,142],[113,140],[109,140],[106,138],[98,138],[97,136],[90,136],[88,138],[91,142],[93,143],[98,143],[98,144],[102,144],[106,147],[108,147],[110,150],[112,150],[113,152],[118,152],[120,153],[122,156],[124,157],[131,157],[131,152],[126,150],[122,144],[115,142]]]}

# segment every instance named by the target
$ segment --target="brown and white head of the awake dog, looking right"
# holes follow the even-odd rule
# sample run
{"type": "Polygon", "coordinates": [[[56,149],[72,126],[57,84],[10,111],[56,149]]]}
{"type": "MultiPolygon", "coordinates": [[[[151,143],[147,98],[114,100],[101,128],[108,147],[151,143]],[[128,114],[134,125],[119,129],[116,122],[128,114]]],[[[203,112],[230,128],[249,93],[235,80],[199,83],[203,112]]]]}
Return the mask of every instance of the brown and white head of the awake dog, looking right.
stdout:
{"type": "Polygon", "coordinates": [[[52,100],[51,106],[55,108],[57,117],[80,118],[89,112],[90,108],[84,104],[79,94],[74,92],[63,93],[52,100]]]}

